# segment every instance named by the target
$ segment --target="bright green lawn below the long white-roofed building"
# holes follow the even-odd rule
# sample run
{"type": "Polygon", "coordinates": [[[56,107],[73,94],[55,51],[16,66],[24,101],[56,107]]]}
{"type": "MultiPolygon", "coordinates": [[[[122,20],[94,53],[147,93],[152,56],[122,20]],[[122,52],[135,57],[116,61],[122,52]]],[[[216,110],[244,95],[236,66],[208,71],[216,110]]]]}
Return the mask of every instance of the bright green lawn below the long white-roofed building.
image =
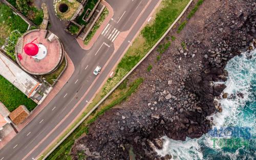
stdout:
{"type": "Polygon", "coordinates": [[[28,110],[31,111],[37,105],[1,75],[0,101],[8,108],[9,111],[13,111],[20,105],[25,105],[28,110]]]}

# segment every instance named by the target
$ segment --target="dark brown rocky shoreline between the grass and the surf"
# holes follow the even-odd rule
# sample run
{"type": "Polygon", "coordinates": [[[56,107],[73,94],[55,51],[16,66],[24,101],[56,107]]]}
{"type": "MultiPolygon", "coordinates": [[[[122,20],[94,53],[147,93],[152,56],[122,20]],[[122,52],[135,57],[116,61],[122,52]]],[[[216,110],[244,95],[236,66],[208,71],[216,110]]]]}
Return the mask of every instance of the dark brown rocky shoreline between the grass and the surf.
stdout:
{"type": "Polygon", "coordinates": [[[207,133],[212,125],[207,117],[221,111],[215,98],[232,97],[223,94],[224,84],[214,82],[227,80],[225,65],[248,49],[256,38],[255,24],[253,0],[205,0],[180,34],[168,34],[177,38],[152,71],[146,68],[157,50],[129,77],[143,77],[144,82],[76,141],[73,159],[78,153],[87,159],[170,159],[155,151],[162,148],[163,135],[184,141],[207,133]]]}

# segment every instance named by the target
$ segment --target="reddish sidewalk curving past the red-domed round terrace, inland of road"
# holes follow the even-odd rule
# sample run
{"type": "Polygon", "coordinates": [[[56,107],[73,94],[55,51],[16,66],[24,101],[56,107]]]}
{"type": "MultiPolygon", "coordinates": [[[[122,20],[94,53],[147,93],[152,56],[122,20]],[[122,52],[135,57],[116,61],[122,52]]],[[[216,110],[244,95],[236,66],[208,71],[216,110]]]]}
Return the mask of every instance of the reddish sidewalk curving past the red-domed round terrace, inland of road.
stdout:
{"type": "MultiPolygon", "coordinates": [[[[66,53],[65,53],[66,54],[66,53]]],[[[70,79],[72,74],[74,73],[75,67],[71,59],[69,58],[68,54],[66,54],[67,57],[67,63],[68,66],[66,68],[66,71],[60,76],[60,79],[58,82],[53,86],[53,89],[49,93],[49,95],[46,97],[46,99],[38,105],[29,115],[29,117],[21,124],[18,124],[16,126],[16,129],[18,131],[22,130],[30,121],[33,120],[33,118],[42,110],[45,106],[48,105],[48,103],[58,94],[59,90],[67,83],[67,81],[70,79]]],[[[0,142],[0,149],[3,148],[9,141],[12,140],[12,138],[16,135],[16,133],[10,132],[3,141],[0,142]]]]}

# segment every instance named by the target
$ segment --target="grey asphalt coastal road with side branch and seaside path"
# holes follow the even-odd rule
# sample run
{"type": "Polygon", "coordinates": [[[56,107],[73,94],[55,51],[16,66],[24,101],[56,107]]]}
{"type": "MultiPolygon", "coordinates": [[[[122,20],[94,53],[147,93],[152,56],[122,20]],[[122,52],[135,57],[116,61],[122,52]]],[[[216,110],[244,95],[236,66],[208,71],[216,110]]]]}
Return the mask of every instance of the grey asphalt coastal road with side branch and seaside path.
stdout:
{"type": "MultiPolygon", "coordinates": [[[[56,97],[0,150],[0,160],[36,159],[39,157],[39,154],[72,123],[88,101],[92,99],[104,79],[109,77],[115,63],[127,46],[131,45],[129,41],[147,20],[159,0],[150,2],[115,53],[113,42],[110,40],[112,36],[104,36],[104,34],[100,35],[91,50],[82,50],[76,39],[64,31],[66,22],[60,21],[54,15],[53,0],[37,0],[38,4],[41,2],[45,2],[48,6],[50,30],[60,38],[65,51],[75,65],[75,71],[56,97]],[[109,62],[106,63],[108,60],[109,62]],[[95,76],[93,70],[97,65],[103,69],[98,76],[95,76]],[[84,94],[86,96],[82,98],[84,94]]],[[[148,0],[106,0],[106,2],[114,10],[109,26],[112,26],[113,30],[117,30],[114,30],[113,33],[118,33],[132,27],[148,0]]]]}

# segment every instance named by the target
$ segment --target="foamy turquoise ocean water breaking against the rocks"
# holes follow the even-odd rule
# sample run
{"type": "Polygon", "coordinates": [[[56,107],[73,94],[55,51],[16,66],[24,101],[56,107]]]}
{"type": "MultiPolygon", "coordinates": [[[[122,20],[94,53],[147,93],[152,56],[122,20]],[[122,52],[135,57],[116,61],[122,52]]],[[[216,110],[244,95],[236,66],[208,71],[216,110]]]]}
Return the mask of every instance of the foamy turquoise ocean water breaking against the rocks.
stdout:
{"type": "MultiPolygon", "coordinates": [[[[200,139],[187,138],[184,142],[164,136],[164,146],[162,150],[157,150],[158,154],[170,154],[172,159],[256,159],[256,50],[232,58],[225,69],[229,75],[224,82],[227,86],[224,93],[242,93],[243,98],[235,96],[233,99],[221,99],[223,111],[212,116],[214,127],[248,127],[251,138],[241,138],[244,141],[241,146],[230,147],[220,141],[214,145],[209,133],[200,139]]],[[[230,136],[218,139],[226,138],[232,139],[230,136]]]]}

